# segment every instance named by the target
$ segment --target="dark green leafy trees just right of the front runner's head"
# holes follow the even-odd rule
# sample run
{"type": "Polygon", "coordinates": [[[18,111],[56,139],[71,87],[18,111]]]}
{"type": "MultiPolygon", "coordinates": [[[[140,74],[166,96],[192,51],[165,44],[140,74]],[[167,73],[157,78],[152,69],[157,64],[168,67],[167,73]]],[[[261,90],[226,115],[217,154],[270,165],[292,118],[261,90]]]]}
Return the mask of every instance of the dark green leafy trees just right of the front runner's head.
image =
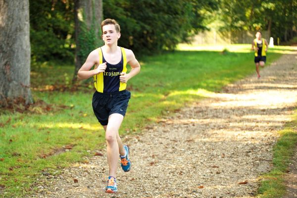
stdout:
{"type": "Polygon", "coordinates": [[[104,18],[121,26],[119,45],[140,53],[174,49],[199,29],[202,9],[216,8],[215,0],[103,0],[104,18]]]}

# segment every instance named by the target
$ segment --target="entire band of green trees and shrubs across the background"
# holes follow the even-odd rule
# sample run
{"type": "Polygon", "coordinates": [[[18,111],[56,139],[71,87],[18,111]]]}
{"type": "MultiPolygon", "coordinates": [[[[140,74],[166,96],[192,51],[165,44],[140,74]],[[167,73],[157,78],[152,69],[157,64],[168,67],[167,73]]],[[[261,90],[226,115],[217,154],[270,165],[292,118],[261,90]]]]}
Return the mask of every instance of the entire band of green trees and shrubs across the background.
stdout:
{"type": "MultiPolygon", "coordinates": [[[[296,9],[297,0],[103,0],[103,17],[121,26],[119,46],[138,54],[174,49],[208,28],[270,30],[285,44],[297,36],[296,9]]],[[[74,0],[30,0],[30,27],[33,60],[74,61],[74,0]]]]}

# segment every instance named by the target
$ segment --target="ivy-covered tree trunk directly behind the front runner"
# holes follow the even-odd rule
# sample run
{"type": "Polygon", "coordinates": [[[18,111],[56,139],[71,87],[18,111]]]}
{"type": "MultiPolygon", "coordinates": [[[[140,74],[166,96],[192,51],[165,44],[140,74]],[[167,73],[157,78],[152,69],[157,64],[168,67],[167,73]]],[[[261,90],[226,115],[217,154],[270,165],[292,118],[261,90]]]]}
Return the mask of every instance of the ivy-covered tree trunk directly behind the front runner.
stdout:
{"type": "Polygon", "coordinates": [[[76,49],[73,82],[77,81],[77,72],[89,53],[102,44],[102,0],[74,0],[74,10],[76,49]]]}

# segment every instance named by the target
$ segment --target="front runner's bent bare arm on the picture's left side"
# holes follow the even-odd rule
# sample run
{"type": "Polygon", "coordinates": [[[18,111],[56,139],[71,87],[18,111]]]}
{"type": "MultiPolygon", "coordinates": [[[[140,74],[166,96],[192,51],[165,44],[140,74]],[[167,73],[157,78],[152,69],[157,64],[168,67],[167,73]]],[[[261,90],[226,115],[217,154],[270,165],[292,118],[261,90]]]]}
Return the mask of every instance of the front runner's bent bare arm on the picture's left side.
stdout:
{"type": "Polygon", "coordinates": [[[94,65],[98,65],[99,55],[98,51],[95,49],[93,50],[86,62],[83,64],[83,66],[78,70],[77,78],[79,80],[88,79],[96,74],[99,74],[101,72],[104,72],[106,69],[106,62],[99,64],[99,66],[93,70],[90,70],[94,65]]]}

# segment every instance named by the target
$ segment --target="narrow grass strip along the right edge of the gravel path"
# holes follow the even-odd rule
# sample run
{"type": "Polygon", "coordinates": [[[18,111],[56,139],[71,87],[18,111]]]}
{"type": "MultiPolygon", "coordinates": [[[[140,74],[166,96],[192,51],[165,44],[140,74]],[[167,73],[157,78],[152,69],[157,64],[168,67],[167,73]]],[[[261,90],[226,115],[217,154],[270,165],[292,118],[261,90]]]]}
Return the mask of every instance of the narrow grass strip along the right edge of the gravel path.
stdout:
{"type": "Polygon", "coordinates": [[[293,121],[279,132],[280,138],[273,148],[273,169],[260,177],[259,198],[282,198],[286,193],[283,176],[297,144],[297,110],[293,116],[293,121]]]}

